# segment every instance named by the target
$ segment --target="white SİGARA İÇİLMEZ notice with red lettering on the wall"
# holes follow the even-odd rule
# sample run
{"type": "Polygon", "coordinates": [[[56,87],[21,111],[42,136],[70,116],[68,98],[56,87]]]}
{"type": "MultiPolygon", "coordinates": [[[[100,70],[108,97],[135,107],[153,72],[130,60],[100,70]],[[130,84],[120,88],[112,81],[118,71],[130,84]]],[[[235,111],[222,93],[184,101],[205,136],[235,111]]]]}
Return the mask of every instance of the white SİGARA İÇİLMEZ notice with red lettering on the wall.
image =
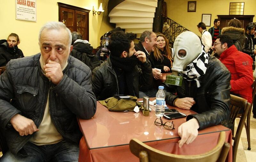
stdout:
{"type": "Polygon", "coordinates": [[[15,0],[16,19],[36,21],[36,0],[15,0]]]}

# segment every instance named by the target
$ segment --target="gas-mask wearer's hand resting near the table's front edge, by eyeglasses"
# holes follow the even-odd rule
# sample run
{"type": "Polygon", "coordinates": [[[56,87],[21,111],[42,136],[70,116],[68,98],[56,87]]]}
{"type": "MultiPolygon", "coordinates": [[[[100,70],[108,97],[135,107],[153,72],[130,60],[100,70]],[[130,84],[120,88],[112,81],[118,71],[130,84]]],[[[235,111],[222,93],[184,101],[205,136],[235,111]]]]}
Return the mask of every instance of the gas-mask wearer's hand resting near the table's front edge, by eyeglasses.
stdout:
{"type": "Polygon", "coordinates": [[[198,135],[199,123],[196,118],[190,119],[178,127],[178,135],[181,140],[178,141],[181,148],[184,143],[192,143],[198,135]]]}

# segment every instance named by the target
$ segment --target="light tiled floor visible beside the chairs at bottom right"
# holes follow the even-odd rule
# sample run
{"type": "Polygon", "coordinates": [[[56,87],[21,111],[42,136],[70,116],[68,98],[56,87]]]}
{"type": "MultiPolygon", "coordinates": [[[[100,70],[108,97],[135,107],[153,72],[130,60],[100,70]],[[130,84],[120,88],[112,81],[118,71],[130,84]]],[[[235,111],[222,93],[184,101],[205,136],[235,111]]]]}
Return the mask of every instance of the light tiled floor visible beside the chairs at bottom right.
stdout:
{"type": "MultiPolygon", "coordinates": [[[[236,119],[235,129],[237,127],[238,122],[239,122],[239,119],[236,119]]],[[[250,133],[251,150],[247,150],[248,143],[247,143],[246,131],[245,131],[245,128],[243,128],[239,145],[238,145],[237,155],[236,155],[237,162],[255,162],[256,161],[255,160],[256,158],[256,119],[252,118],[252,113],[251,113],[250,131],[251,131],[250,133]]]]}

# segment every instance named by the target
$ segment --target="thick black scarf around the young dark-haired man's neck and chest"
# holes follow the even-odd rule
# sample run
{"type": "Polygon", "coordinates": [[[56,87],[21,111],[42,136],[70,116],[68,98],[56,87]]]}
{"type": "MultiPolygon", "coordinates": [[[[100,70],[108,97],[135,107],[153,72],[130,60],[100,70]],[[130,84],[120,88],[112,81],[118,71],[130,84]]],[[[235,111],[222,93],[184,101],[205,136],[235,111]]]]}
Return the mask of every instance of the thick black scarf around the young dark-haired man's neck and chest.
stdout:
{"type": "Polygon", "coordinates": [[[118,77],[119,95],[134,96],[132,72],[137,65],[138,59],[135,55],[129,58],[120,58],[113,55],[109,56],[113,69],[118,77]],[[126,83],[126,84],[125,84],[126,83]],[[128,94],[127,94],[128,93],[128,94]]]}

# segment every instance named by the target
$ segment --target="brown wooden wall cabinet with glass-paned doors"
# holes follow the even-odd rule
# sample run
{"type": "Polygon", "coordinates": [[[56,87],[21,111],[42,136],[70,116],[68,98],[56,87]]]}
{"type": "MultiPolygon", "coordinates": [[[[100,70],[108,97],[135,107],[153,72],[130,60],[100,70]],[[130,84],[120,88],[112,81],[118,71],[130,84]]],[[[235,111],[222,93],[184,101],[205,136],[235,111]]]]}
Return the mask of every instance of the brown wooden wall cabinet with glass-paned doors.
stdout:
{"type": "Polygon", "coordinates": [[[89,41],[89,12],[90,10],[63,4],[59,5],[59,21],[63,22],[71,32],[80,32],[83,39],[89,41]]]}

